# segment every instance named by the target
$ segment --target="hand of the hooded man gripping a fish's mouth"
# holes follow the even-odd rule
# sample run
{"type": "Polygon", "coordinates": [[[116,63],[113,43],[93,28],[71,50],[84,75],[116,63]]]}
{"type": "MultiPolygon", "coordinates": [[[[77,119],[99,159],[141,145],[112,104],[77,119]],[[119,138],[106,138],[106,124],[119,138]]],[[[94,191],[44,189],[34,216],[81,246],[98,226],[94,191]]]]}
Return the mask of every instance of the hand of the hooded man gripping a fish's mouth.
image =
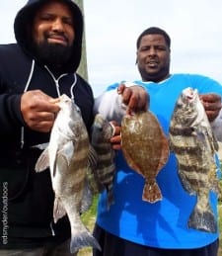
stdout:
{"type": "Polygon", "coordinates": [[[53,99],[39,90],[28,91],[21,97],[21,112],[27,126],[41,132],[49,131],[59,111],[53,99]]]}

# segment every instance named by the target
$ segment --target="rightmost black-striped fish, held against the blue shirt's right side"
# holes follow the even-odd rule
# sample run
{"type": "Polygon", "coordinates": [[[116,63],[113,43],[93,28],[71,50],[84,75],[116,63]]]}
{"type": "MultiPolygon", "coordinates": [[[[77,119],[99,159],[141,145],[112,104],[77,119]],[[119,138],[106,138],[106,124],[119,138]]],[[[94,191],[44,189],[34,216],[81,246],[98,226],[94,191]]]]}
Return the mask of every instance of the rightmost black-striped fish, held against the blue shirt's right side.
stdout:
{"type": "Polygon", "coordinates": [[[209,204],[209,191],[219,192],[215,163],[218,144],[197,90],[185,88],[175,105],[170,148],[178,159],[179,177],[185,191],[197,198],[188,227],[216,232],[217,220],[209,204]]]}

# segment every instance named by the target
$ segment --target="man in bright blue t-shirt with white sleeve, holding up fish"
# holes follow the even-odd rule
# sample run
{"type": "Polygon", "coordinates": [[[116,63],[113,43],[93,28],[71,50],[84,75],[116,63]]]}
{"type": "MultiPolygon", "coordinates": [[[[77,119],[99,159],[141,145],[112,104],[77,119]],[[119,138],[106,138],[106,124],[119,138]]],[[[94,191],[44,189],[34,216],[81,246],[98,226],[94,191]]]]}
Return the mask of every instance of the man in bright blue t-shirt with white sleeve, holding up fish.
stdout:
{"type": "MultiPolygon", "coordinates": [[[[149,93],[149,109],[158,118],[167,137],[180,94],[186,87],[197,89],[213,132],[221,141],[222,86],[197,74],[171,74],[170,55],[171,39],[168,34],[155,27],[145,30],[137,40],[136,56],[142,79],[132,84],[140,85],[149,93]]],[[[116,92],[119,84],[111,85],[98,97],[95,111],[120,124],[125,110],[124,106],[119,108],[120,105],[116,104],[120,100],[116,92]]],[[[117,151],[114,204],[108,209],[107,194],[101,194],[94,234],[102,252],[94,250],[94,256],[217,255],[219,231],[206,232],[187,226],[196,196],[185,191],[173,152],[159,172],[157,183],[163,199],[155,204],[142,201],[144,178],[127,165],[121,150],[117,151]]],[[[217,218],[217,195],[210,192],[209,200],[217,218]]]]}

